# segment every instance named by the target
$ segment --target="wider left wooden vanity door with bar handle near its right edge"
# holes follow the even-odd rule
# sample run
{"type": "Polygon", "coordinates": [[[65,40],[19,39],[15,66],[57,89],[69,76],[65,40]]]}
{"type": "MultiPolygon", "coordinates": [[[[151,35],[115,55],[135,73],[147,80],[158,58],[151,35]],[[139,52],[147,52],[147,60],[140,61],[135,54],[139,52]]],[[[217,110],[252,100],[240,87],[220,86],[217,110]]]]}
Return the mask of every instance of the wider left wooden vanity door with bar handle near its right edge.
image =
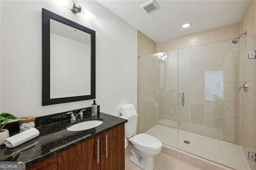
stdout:
{"type": "Polygon", "coordinates": [[[100,135],[59,153],[58,170],[100,170],[100,135]]]}

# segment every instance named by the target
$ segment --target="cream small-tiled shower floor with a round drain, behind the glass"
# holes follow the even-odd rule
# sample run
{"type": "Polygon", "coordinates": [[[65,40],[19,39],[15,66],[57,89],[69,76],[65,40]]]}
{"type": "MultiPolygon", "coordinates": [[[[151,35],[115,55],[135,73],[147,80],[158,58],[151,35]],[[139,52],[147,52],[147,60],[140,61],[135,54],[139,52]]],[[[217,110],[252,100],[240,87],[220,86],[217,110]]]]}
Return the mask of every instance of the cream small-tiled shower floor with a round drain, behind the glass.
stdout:
{"type": "Polygon", "coordinates": [[[250,170],[242,147],[238,144],[162,125],[155,125],[146,133],[155,136],[163,144],[184,150],[213,162],[237,170],[250,170]],[[190,144],[184,143],[184,140],[188,140],[190,144]]]}

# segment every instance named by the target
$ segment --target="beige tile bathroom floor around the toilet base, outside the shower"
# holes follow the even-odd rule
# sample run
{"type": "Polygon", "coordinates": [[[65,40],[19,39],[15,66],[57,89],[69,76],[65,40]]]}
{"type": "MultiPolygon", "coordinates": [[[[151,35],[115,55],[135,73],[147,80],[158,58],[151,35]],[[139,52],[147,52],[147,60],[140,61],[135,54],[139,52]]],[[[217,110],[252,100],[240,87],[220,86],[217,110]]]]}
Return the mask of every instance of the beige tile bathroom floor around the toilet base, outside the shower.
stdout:
{"type": "MultiPolygon", "coordinates": [[[[130,161],[131,152],[127,149],[125,151],[125,169],[126,170],[142,170],[140,167],[130,161]]],[[[154,170],[200,170],[195,166],[187,164],[172,156],[166,155],[162,152],[154,157],[154,170]]]]}

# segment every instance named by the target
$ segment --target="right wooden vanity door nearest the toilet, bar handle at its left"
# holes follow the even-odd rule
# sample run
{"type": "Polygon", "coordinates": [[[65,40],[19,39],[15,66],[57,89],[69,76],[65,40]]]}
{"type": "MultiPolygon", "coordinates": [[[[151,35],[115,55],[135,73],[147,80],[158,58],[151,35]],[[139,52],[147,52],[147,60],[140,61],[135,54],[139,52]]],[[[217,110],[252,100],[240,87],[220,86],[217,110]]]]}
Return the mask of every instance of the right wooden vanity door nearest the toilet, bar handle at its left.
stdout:
{"type": "Polygon", "coordinates": [[[101,169],[124,170],[124,124],[100,135],[101,169]]]}

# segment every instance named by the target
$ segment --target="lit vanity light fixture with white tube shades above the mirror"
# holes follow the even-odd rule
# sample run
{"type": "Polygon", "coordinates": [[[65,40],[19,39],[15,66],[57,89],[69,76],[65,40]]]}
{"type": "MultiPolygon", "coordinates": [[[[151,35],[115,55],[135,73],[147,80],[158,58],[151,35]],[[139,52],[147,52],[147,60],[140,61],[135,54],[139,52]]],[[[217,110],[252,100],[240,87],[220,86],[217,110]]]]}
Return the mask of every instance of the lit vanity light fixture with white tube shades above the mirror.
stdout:
{"type": "Polygon", "coordinates": [[[76,6],[75,3],[71,0],[60,0],[60,2],[70,8],[70,10],[74,13],[74,14],[77,14],[77,13],[80,13],[82,14],[83,16],[85,16],[86,18],[89,18],[90,20],[95,20],[96,19],[96,15],[92,14],[92,12],[84,9],[82,6],[76,6]]]}

